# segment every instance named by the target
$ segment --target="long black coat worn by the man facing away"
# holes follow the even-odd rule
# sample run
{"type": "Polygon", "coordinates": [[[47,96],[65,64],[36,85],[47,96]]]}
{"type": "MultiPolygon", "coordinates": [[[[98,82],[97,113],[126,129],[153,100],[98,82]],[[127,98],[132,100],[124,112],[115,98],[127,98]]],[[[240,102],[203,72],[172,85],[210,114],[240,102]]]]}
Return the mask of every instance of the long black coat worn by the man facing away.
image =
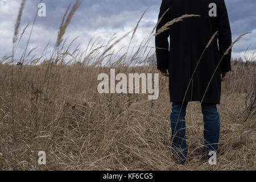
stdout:
{"type": "MultiPolygon", "coordinates": [[[[169,30],[155,36],[157,67],[159,70],[168,69],[170,73],[171,102],[183,101],[195,67],[209,40],[218,31],[212,44],[205,50],[185,96],[185,101],[201,101],[214,70],[232,43],[225,2],[224,0],[163,0],[159,18],[168,8],[170,10],[163,16],[156,31],[181,15],[200,15],[174,23],[169,30]],[[217,16],[209,15],[209,11],[212,9],[209,8],[210,3],[217,5],[217,16]]],[[[217,68],[203,102],[220,104],[221,71],[231,71],[230,59],[231,50],[228,55],[224,56],[217,68]]]]}

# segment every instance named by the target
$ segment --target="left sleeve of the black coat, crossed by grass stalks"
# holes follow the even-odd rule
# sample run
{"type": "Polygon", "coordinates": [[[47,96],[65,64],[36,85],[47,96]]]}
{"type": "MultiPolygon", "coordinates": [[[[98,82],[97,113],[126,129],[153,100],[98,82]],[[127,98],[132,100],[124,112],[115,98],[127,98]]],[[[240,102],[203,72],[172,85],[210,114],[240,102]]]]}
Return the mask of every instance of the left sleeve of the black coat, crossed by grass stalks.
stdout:
{"type": "MultiPolygon", "coordinates": [[[[169,7],[170,7],[169,0],[162,0],[158,20],[163,16],[163,14],[168,10],[169,7]]],[[[162,20],[158,23],[158,26],[156,27],[156,32],[159,30],[159,28],[164,26],[164,24],[170,21],[168,19],[169,12],[170,10],[168,10],[166,14],[164,14],[164,16],[162,17],[162,20]]],[[[168,69],[168,60],[169,60],[168,37],[169,35],[170,35],[170,30],[166,30],[161,34],[155,36],[156,61],[157,61],[158,70],[168,69]]]]}

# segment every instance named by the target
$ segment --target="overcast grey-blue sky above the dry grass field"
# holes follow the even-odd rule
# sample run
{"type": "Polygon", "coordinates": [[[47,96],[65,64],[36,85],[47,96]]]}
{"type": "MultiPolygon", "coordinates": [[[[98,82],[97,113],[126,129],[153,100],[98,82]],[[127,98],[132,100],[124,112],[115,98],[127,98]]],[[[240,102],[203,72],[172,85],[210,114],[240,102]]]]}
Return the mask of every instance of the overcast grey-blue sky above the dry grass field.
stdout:
{"type": "MultiPolygon", "coordinates": [[[[11,55],[13,46],[14,25],[22,0],[0,0],[0,57],[11,55]]],[[[57,31],[60,26],[61,18],[69,3],[73,0],[44,0],[46,3],[46,17],[39,17],[36,20],[32,32],[31,48],[37,47],[35,54],[40,56],[44,47],[50,40],[49,49],[56,42],[57,31]]],[[[137,24],[144,10],[149,8],[139,24],[135,38],[131,47],[138,46],[143,40],[147,39],[157,22],[161,0],[84,0],[79,10],[73,16],[69,24],[65,37],[69,36],[69,42],[79,36],[76,44],[85,47],[89,40],[100,40],[107,42],[113,34],[121,37],[126,32],[131,31],[137,24]]],[[[256,1],[255,0],[225,0],[228,8],[230,24],[232,27],[233,40],[240,34],[252,31],[246,35],[233,48],[233,57],[243,56],[247,47],[247,55],[256,52],[256,1]]],[[[39,0],[27,0],[22,15],[19,34],[27,23],[32,24],[36,11],[38,10],[39,0]]],[[[20,56],[26,45],[26,40],[31,26],[25,33],[16,55],[20,56]]],[[[118,47],[129,44],[130,36],[118,43],[118,47]]],[[[154,38],[151,39],[149,46],[154,46],[154,38]]],[[[152,49],[152,52],[154,50],[152,49]]]]}

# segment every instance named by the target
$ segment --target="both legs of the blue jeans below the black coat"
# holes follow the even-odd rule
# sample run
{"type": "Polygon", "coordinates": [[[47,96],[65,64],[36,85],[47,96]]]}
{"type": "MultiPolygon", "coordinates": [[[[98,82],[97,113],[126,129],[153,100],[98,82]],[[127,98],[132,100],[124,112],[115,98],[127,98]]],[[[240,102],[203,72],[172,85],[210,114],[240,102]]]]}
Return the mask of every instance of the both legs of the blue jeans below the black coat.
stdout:
{"type": "MultiPolygon", "coordinates": [[[[174,102],[172,104],[171,130],[172,130],[172,153],[183,161],[187,159],[188,148],[186,144],[186,125],[185,115],[188,102],[174,102]]],[[[202,113],[204,115],[204,148],[202,155],[209,154],[210,151],[218,150],[218,139],[220,137],[220,114],[217,111],[216,104],[202,104],[202,113]]],[[[209,156],[210,157],[210,156],[209,156]]]]}

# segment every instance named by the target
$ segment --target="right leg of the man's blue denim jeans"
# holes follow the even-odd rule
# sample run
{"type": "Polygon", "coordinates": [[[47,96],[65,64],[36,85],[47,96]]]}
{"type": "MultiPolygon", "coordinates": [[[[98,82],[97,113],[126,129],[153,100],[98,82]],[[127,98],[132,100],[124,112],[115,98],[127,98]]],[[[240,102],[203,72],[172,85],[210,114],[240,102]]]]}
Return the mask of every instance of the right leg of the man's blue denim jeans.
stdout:
{"type": "Polygon", "coordinates": [[[209,154],[210,151],[218,151],[218,140],[220,138],[220,114],[216,104],[202,104],[204,115],[204,140],[205,146],[202,155],[209,154]]]}

